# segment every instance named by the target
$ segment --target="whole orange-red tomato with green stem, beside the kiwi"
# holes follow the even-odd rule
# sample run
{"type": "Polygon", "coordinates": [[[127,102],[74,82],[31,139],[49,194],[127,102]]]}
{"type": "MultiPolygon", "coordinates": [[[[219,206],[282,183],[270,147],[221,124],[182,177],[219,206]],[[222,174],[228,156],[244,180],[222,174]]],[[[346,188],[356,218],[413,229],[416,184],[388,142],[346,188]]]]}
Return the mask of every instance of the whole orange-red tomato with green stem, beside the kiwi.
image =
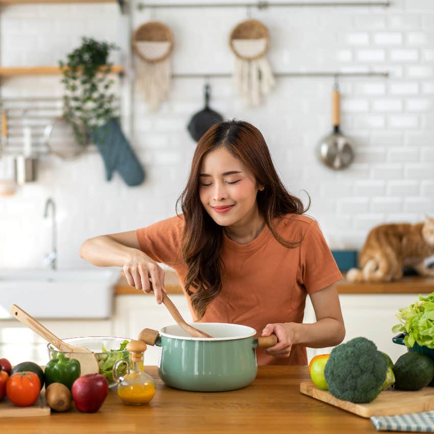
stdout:
{"type": "Polygon", "coordinates": [[[15,405],[26,407],[32,405],[39,397],[41,381],[31,371],[16,372],[6,383],[6,395],[15,405]]]}

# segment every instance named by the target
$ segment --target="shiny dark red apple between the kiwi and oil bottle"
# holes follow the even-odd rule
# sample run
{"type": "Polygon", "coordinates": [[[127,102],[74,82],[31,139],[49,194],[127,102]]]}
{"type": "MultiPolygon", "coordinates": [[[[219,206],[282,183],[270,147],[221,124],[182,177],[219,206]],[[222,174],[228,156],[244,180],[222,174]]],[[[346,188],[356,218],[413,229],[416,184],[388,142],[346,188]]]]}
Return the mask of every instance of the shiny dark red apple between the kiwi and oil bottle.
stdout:
{"type": "Polygon", "coordinates": [[[71,392],[79,412],[94,413],[107,397],[107,378],[101,374],[82,375],[74,381],[71,392]]]}

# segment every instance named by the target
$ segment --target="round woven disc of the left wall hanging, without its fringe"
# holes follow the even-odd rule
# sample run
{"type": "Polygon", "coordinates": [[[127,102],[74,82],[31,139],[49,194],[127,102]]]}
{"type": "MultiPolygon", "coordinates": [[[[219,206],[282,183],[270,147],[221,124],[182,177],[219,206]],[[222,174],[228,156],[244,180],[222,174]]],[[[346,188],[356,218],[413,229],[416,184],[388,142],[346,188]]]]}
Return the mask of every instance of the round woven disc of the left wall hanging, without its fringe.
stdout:
{"type": "Polygon", "coordinates": [[[173,50],[172,32],[162,22],[148,21],[136,29],[132,37],[132,45],[134,53],[142,60],[150,63],[162,62],[173,50]],[[144,53],[146,50],[142,49],[142,45],[153,42],[161,42],[160,49],[152,56],[146,55],[144,53]]]}

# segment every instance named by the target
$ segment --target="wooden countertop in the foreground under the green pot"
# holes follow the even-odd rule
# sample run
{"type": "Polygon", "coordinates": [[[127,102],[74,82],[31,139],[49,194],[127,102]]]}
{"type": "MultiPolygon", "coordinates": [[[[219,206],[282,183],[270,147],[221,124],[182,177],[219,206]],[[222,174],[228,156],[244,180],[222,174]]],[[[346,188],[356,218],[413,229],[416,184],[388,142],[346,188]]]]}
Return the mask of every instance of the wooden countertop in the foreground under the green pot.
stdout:
{"type": "Polygon", "coordinates": [[[122,404],[111,390],[97,413],[2,418],[2,432],[14,434],[98,432],[161,434],[284,433],[351,434],[376,432],[369,419],[355,416],[300,393],[309,379],[304,366],[264,366],[247,388],[218,393],[186,392],[164,385],[157,367],[147,366],[157,385],[149,405],[122,404]]]}

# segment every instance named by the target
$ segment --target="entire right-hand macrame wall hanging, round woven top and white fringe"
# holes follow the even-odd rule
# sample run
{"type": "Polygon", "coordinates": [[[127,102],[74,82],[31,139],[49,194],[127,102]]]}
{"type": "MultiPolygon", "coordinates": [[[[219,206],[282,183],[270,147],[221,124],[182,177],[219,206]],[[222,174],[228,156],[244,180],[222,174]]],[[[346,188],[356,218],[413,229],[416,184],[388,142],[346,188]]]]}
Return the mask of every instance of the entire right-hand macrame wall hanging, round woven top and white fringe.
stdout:
{"type": "Polygon", "coordinates": [[[275,85],[265,58],[269,44],[267,27],[256,19],[240,22],[230,34],[229,45],[235,54],[233,80],[248,107],[258,106],[275,85]]]}

